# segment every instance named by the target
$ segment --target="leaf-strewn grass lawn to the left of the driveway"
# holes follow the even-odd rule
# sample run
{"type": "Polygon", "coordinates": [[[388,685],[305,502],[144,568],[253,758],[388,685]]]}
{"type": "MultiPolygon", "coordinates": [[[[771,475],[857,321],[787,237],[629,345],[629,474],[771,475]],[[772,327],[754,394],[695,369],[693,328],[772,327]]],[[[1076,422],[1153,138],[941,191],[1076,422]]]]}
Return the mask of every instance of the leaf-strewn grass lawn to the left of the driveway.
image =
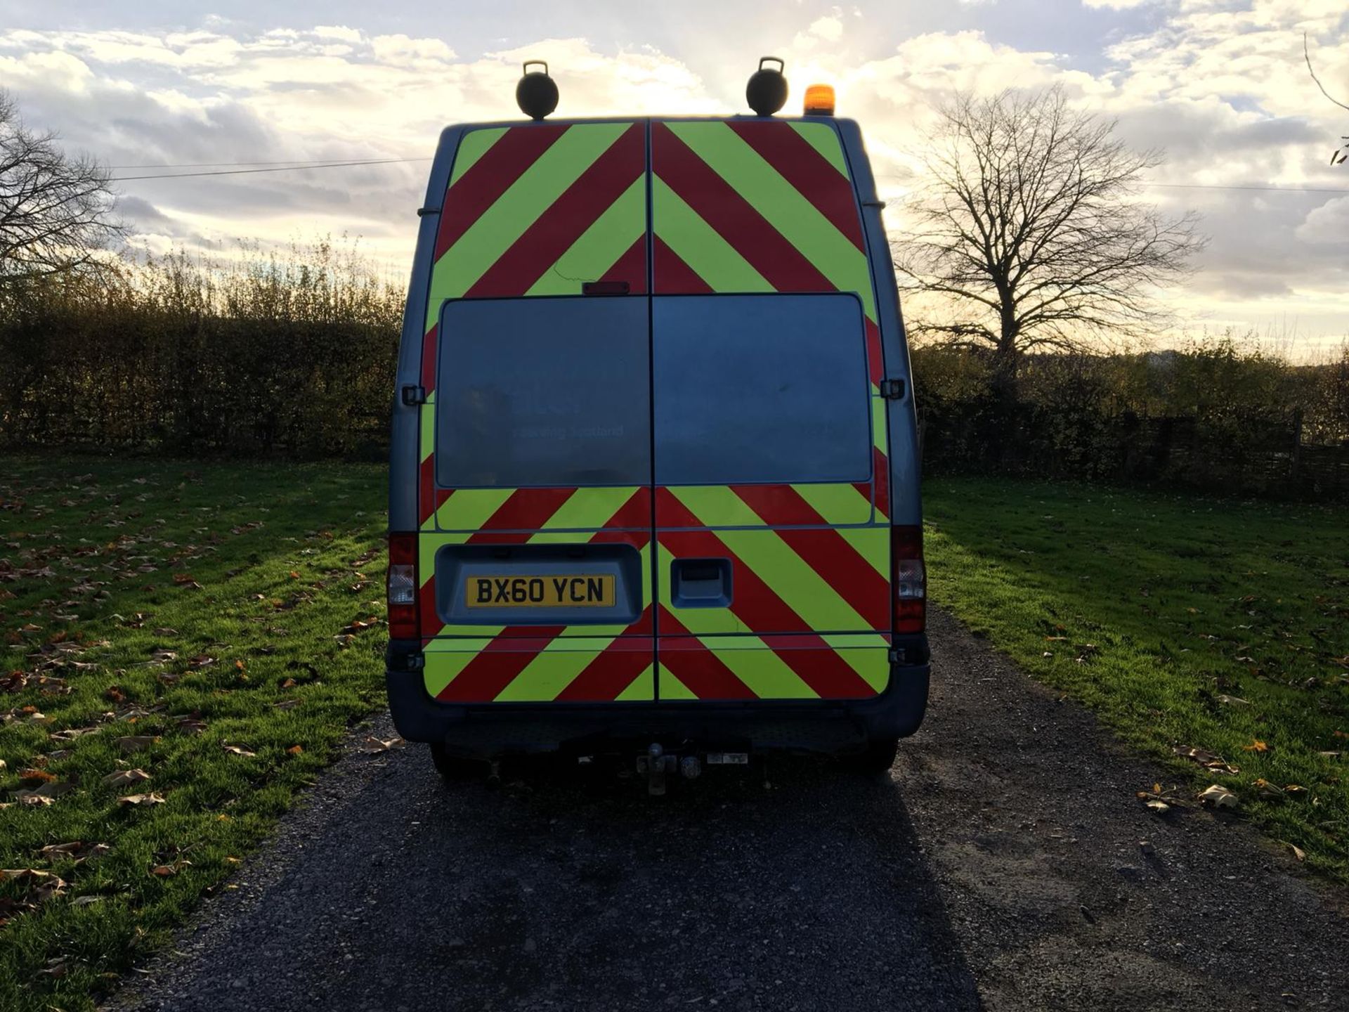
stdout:
{"type": "Polygon", "coordinates": [[[380,704],[384,480],[0,461],[0,1008],[92,1008],[380,704]]]}

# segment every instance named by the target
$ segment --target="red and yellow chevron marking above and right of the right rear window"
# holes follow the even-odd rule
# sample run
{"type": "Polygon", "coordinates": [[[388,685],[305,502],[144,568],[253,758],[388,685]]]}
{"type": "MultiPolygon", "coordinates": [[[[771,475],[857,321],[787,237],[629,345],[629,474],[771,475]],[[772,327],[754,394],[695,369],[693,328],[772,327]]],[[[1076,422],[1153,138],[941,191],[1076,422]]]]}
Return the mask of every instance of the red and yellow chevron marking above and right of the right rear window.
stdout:
{"type": "MultiPolygon", "coordinates": [[[[874,498],[889,515],[881,332],[861,210],[826,123],[652,124],[653,291],[855,291],[873,383],[874,498]]],[[[871,483],[858,491],[873,497],[871,483]]]]}

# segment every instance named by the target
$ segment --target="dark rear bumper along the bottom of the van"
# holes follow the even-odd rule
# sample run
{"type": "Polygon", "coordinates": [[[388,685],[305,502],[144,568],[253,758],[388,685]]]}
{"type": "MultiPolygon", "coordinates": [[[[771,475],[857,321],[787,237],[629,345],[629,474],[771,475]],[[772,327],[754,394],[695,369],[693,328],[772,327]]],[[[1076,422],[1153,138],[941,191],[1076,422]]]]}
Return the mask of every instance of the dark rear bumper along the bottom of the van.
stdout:
{"type": "Polygon", "coordinates": [[[471,758],[645,748],[653,741],[849,754],[871,741],[913,734],[927,710],[931,675],[927,638],[919,636],[897,638],[890,683],[870,699],[461,706],[426,695],[420,656],[414,644],[389,645],[386,685],[394,726],[407,741],[442,742],[451,753],[471,758]]]}

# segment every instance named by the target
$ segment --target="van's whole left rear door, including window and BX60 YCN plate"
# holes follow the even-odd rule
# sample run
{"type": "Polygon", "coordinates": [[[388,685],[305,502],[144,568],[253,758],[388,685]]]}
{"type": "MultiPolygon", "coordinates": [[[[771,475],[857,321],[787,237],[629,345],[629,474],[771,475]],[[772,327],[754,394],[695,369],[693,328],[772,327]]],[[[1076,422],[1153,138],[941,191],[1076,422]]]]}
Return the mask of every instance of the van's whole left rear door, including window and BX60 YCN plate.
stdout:
{"type": "Polygon", "coordinates": [[[645,123],[459,143],[422,352],[434,699],[654,698],[646,221],[645,123]]]}

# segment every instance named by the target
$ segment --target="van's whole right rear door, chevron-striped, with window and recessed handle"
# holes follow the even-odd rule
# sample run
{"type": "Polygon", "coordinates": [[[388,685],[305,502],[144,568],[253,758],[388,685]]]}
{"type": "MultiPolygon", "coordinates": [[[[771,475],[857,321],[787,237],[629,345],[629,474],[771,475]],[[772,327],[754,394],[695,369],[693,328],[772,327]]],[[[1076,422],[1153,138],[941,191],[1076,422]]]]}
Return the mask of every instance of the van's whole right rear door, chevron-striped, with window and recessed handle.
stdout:
{"type": "Polygon", "coordinates": [[[657,692],[881,692],[886,402],[828,123],[652,124],[657,692]]]}

